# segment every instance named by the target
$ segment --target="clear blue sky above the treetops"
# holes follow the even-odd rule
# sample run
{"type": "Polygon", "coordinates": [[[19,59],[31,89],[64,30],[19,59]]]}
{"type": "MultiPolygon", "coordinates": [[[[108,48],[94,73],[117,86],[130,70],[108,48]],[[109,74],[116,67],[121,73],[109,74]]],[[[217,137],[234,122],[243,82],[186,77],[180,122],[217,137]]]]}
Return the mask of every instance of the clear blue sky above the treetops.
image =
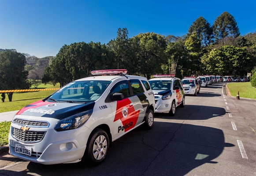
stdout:
{"type": "Polygon", "coordinates": [[[129,37],[182,36],[200,16],[212,25],[224,11],[241,35],[256,31],[256,0],[0,0],[0,48],[41,58],[56,56],[64,44],[107,44],[118,28],[129,37]]]}

